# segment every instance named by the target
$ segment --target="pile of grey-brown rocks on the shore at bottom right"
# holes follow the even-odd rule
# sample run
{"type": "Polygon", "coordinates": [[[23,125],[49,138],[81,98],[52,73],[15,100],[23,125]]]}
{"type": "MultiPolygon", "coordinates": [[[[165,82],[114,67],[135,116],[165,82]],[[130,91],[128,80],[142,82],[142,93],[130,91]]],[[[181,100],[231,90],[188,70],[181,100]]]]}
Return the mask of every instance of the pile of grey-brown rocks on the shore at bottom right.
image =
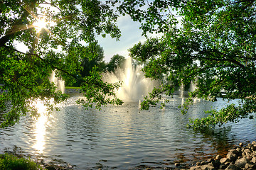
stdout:
{"type": "Polygon", "coordinates": [[[190,170],[253,170],[256,169],[256,142],[247,145],[239,144],[230,149],[226,157],[217,155],[206,162],[197,162],[190,170]]]}

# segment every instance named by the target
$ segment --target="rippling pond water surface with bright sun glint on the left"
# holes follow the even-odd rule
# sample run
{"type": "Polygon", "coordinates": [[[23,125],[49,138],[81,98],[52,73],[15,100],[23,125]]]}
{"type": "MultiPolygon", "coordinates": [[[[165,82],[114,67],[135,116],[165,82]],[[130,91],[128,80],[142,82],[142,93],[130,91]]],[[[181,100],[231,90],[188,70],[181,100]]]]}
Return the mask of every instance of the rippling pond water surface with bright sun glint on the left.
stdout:
{"type": "Polygon", "coordinates": [[[186,128],[188,118],[201,118],[203,110],[222,108],[225,101],[195,103],[187,115],[178,109],[182,99],[166,108],[140,111],[138,102],[86,110],[76,97],[60,105],[59,112],[0,130],[0,152],[19,152],[33,159],[74,169],[171,168],[176,162],[194,164],[225,154],[239,142],[256,140],[256,120],[228,123],[210,134],[186,128]]]}

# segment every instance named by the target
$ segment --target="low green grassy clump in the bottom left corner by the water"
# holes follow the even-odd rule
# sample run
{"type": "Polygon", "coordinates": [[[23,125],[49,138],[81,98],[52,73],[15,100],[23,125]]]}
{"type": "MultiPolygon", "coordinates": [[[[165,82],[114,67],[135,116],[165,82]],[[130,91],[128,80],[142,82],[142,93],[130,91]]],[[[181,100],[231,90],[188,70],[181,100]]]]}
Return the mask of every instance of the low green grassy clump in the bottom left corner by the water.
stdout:
{"type": "Polygon", "coordinates": [[[37,170],[43,169],[30,159],[18,158],[12,154],[0,154],[0,170],[37,170]]]}

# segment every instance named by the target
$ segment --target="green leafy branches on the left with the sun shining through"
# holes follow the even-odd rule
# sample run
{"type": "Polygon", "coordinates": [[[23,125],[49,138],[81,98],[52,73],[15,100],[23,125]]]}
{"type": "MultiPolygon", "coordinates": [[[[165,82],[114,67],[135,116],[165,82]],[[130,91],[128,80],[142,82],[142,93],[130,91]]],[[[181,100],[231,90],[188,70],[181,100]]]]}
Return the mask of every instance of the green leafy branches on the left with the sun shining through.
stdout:
{"type": "MultiPolygon", "coordinates": [[[[1,127],[18,122],[20,116],[28,112],[36,113],[33,101],[37,98],[48,108],[54,105],[50,98],[54,98],[55,103],[65,100],[66,96],[55,91],[48,77],[55,70],[65,80],[75,81],[78,78],[76,72],[81,67],[76,56],[78,42],[84,41],[93,46],[95,35],[104,37],[106,34],[118,40],[117,14],[112,5],[106,3],[97,0],[1,1],[1,127]],[[33,23],[41,20],[46,21],[46,27],[36,30],[33,23]],[[18,51],[16,44],[25,45],[28,52],[18,51]]],[[[94,60],[94,57],[92,55],[89,60],[94,60]]],[[[119,85],[102,82],[95,70],[83,79],[82,84],[83,94],[96,106],[122,103],[117,98],[108,99],[119,85]]]]}

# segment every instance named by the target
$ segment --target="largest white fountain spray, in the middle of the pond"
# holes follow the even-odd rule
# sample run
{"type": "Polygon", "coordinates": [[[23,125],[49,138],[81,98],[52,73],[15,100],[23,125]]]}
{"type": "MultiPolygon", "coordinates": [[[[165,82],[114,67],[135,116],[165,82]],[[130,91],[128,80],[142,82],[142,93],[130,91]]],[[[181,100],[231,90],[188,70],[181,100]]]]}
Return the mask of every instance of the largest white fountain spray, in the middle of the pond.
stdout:
{"type": "Polygon", "coordinates": [[[122,87],[117,91],[117,97],[122,101],[139,101],[158,84],[157,81],[144,77],[141,68],[132,67],[132,58],[129,57],[124,63],[124,68],[118,68],[116,72],[107,72],[103,80],[108,83],[122,81],[122,87]]]}

